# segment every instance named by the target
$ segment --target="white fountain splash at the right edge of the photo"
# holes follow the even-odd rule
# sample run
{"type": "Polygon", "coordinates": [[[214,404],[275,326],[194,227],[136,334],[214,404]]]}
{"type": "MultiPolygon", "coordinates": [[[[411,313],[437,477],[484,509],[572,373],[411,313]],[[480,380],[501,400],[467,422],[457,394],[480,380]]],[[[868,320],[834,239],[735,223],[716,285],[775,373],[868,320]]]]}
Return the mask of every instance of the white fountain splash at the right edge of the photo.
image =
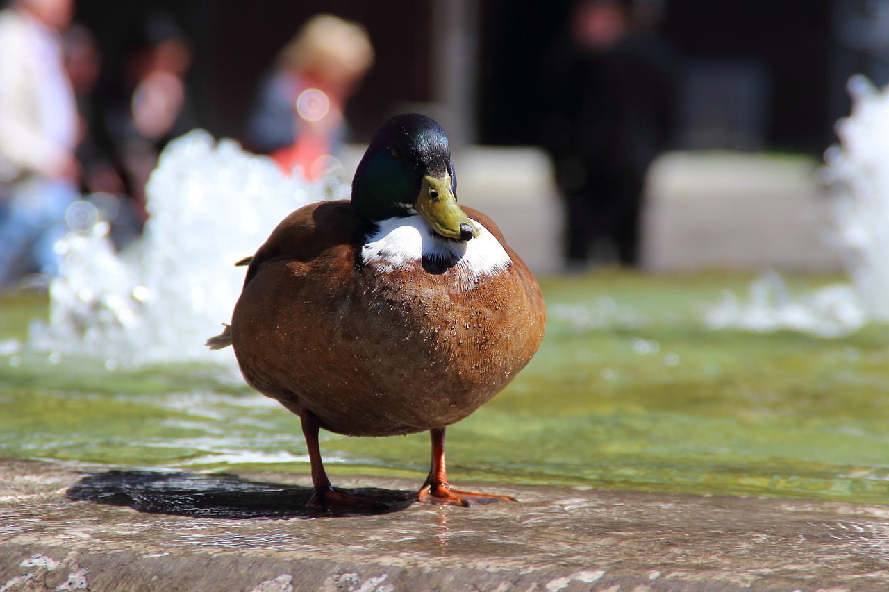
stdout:
{"type": "Polygon", "coordinates": [[[707,308],[710,327],[840,337],[869,320],[889,322],[889,87],[880,92],[853,76],[848,89],[853,112],[837,122],[840,146],[825,152],[819,177],[834,194],[828,240],[852,284],[793,297],[780,276],[767,273],[751,285],[748,300],[727,293],[707,308]]]}

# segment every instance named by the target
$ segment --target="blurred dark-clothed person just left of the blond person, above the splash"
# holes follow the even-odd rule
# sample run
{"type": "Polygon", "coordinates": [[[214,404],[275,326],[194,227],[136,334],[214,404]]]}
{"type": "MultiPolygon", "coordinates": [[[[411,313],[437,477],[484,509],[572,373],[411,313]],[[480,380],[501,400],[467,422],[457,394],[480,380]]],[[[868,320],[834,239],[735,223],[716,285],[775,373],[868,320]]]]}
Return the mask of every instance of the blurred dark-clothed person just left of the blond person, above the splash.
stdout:
{"type": "Polygon", "coordinates": [[[155,13],[131,36],[124,80],[108,108],[108,132],[142,220],[145,184],[164,146],[196,126],[186,76],[192,52],[179,26],[155,13]]]}

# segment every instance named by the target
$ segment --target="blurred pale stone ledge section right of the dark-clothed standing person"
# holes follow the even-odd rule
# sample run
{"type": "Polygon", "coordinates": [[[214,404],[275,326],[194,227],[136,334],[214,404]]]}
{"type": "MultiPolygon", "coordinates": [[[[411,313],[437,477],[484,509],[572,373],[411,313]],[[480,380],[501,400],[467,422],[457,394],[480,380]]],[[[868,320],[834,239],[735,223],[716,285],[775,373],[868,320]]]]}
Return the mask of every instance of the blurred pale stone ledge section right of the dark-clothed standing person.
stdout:
{"type": "Polygon", "coordinates": [[[644,268],[837,272],[830,208],[804,156],[673,152],[648,172],[644,268]]]}

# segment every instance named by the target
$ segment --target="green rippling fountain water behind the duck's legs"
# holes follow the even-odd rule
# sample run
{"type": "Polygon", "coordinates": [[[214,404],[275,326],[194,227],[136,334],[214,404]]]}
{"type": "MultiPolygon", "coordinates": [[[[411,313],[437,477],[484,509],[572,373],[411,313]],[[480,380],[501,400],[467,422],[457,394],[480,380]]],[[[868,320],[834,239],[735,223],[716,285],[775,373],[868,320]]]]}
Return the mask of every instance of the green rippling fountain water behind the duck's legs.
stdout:
{"type": "MultiPolygon", "coordinates": [[[[709,329],[701,307],[748,283],[626,273],[541,282],[541,350],[448,429],[452,481],[889,502],[889,327],[833,340],[709,329]]],[[[227,367],[126,369],[13,351],[45,308],[40,297],[0,297],[0,456],[308,473],[299,420],[227,367]]],[[[334,481],[419,485],[428,471],[425,434],[323,433],[322,450],[334,481]]]]}

